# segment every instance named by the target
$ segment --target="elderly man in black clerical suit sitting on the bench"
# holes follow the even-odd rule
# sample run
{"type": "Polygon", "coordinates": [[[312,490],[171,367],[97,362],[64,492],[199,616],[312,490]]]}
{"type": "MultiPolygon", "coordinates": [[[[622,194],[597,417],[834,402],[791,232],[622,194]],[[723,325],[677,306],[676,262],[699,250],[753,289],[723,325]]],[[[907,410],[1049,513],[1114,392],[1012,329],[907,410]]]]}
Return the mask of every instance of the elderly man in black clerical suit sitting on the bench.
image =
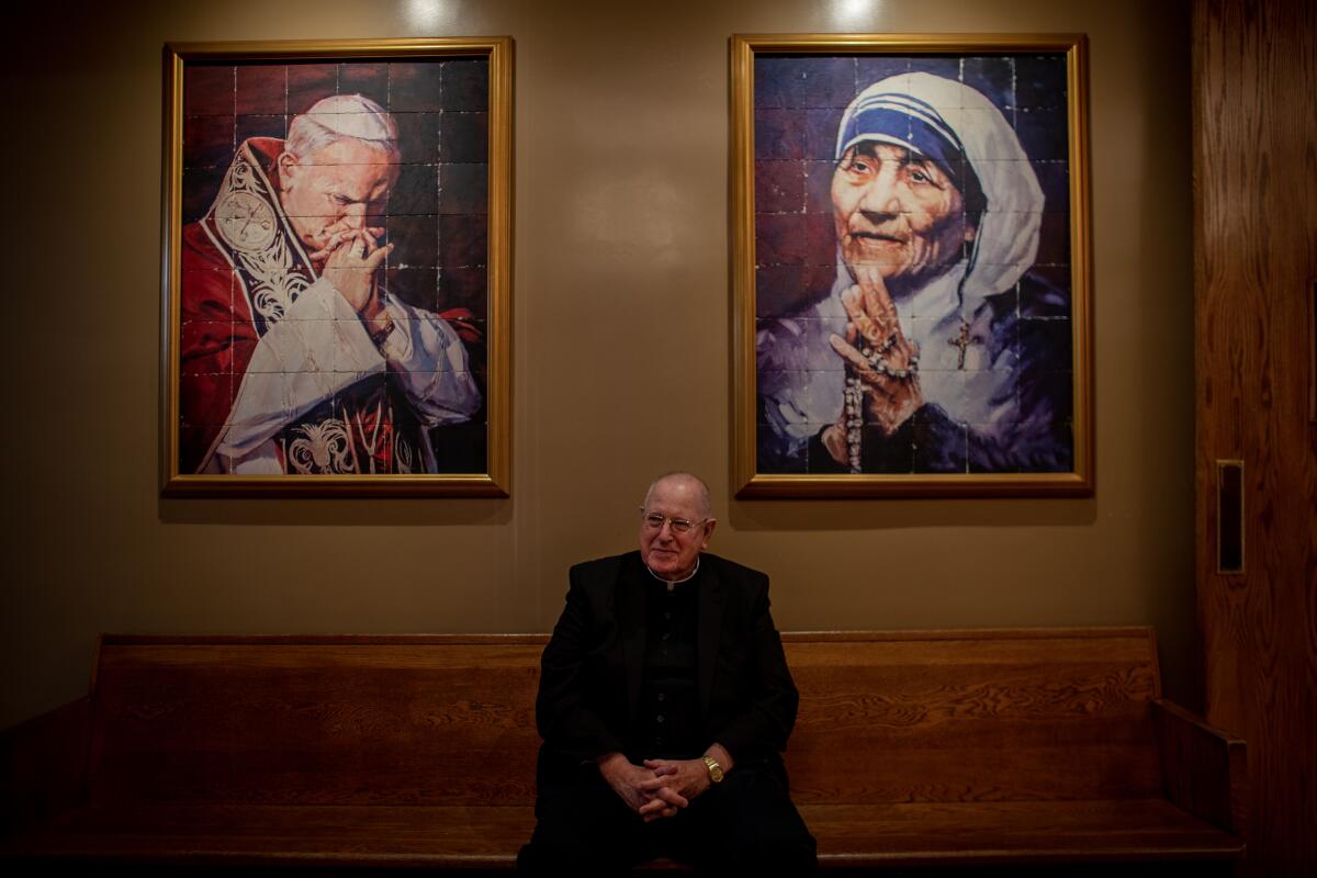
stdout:
{"type": "Polygon", "coordinates": [[[522,870],[814,870],[780,756],[798,695],[768,577],[703,553],[714,525],[707,486],[672,473],[645,494],[639,552],[572,567],[535,703],[522,870]]]}

